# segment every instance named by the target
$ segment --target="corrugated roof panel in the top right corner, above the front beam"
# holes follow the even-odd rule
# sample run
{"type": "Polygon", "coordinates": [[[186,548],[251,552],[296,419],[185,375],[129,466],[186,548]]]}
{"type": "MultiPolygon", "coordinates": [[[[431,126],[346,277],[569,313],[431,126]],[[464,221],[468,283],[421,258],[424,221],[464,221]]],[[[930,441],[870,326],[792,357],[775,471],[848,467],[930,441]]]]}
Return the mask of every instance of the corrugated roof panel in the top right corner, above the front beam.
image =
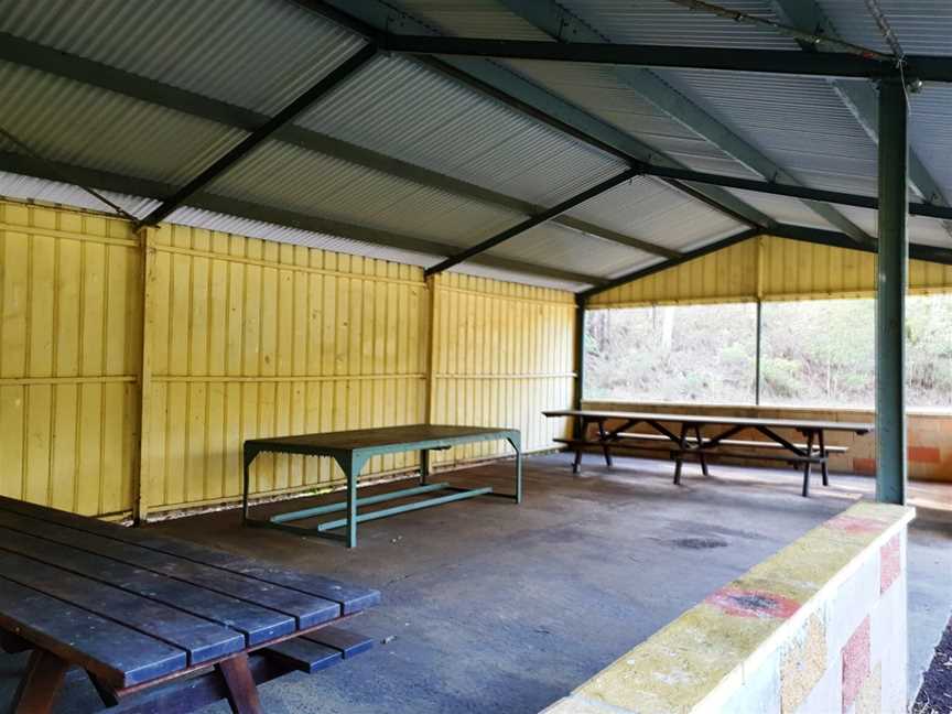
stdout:
{"type": "MultiPolygon", "coordinates": [[[[952,3],[946,0],[878,0],[886,20],[907,54],[952,54],[952,3]]],[[[865,3],[818,0],[843,40],[890,53],[865,3]]]]}

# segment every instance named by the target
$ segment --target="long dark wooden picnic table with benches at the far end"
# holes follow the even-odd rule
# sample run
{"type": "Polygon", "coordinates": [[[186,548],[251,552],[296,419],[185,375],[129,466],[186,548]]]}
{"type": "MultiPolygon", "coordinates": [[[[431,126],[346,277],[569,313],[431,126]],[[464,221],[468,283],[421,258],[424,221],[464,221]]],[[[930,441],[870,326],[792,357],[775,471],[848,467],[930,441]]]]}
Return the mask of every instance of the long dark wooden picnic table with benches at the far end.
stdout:
{"type": "MultiPolygon", "coordinates": [[[[586,446],[598,446],[605,456],[605,463],[612,466],[612,450],[617,447],[645,448],[646,435],[630,433],[630,429],[645,424],[660,435],[662,441],[671,444],[669,451],[674,459],[674,483],[681,483],[681,467],[685,457],[697,457],[702,473],[706,476],[707,456],[720,454],[737,458],[768,458],[790,463],[803,469],[804,497],[810,494],[811,467],[821,467],[823,485],[830,483],[827,458],[831,452],[845,451],[844,447],[829,446],[826,432],[840,431],[854,434],[867,434],[875,428],[868,422],[839,422],[800,419],[761,419],[758,416],[717,416],[714,414],[671,414],[660,412],[627,412],[602,411],[592,409],[565,409],[542,412],[545,416],[569,416],[577,421],[578,434],[575,439],[556,440],[569,444],[575,450],[573,472],[577,473],[582,464],[582,451],[586,446]],[[606,429],[607,422],[620,422],[613,429],[606,429]],[[596,428],[595,439],[588,439],[591,425],[596,428]],[[666,426],[672,424],[672,426],[666,426]],[[722,430],[713,435],[703,436],[704,426],[720,426],[722,430]],[[765,441],[737,441],[731,437],[744,430],[755,430],[765,441]],[[794,431],[805,437],[805,444],[798,444],[778,433],[778,430],[794,431]],[[743,452],[726,452],[723,446],[740,446],[742,448],[776,447],[786,452],[782,456],[758,454],[751,456],[743,452]]],[[[652,439],[652,436],[647,436],[652,439]]],[[[658,436],[653,436],[658,439],[658,436]]]]}

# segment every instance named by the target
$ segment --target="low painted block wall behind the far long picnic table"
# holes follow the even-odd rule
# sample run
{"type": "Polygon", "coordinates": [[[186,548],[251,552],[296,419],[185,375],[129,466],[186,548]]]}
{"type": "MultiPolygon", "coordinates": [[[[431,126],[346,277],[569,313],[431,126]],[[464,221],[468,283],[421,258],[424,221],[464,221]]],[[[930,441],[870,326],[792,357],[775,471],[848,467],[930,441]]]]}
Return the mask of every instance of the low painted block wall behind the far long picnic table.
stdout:
{"type": "MultiPolygon", "coordinates": [[[[606,402],[585,401],[586,409],[603,409],[615,411],[667,412],[675,414],[712,414],[761,416],[765,419],[815,419],[823,421],[858,421],[875,422],[876,414],[866,410],[832,410],[800,409],[780,407],[718,407],[710,404],[659,404],[654,402],[606,402]]],[[[909,477],[916,480],[952,483],[952,414],[910,413],[907,419],[909,430],[908,467],[909,477]]],[[[714,433],[716,428],[704,430],[705,435],[714,433]]],[[[651,433],[650,428],[635,428],[635,432],[651,433]]],[[[762,439],[754,431],[744,431],[737,439],[762,439]]],[[[876,473],[876,439],[873,434],[857,436],[848,432],[830,432],[826,435],[829,445],[846,446],[845,454],[832,454],[830,468],[835,472],[874,475],[876,473]]],[[[629,453],[626,451],[626,453],[629,453]]],[[[658,457],[658,452],[630,452],[632,455],[658,457]]],[[[732,461],[722,458],[722,463],[742,465],[761,465],[777,467],[777,462],[756,459],[732,461]]]]}

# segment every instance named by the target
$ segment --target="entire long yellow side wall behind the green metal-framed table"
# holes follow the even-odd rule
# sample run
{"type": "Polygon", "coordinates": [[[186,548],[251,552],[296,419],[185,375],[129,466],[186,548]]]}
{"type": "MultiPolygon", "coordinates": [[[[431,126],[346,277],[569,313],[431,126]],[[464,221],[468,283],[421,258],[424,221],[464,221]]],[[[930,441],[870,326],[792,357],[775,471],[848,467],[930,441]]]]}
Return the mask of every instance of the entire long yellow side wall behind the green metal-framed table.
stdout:
{"type": "MultiPolygon", "coordinates": [[[[531,452],[565,434],[540,413],[572,400],[565,292],[17,202],[0,202],[0,260],[4,496],[145,517],[235,501],[252,436],[429,420],[517,428],[531,452]]],[[[329,459],[252,468],[261,496],[342,478],[329,459]]]]}

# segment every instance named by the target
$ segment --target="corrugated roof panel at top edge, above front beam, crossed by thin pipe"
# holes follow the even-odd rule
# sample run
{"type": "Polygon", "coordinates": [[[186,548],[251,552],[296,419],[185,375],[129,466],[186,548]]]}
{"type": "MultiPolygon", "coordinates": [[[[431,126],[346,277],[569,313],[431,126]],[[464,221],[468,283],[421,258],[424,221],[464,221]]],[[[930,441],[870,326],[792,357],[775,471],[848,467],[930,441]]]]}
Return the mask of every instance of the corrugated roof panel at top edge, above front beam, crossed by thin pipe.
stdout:
{"type": "MultiPolygon", "coordinates": [[[[670,0],[563,0],[563,6],[612,42],[657,45],[796,50],[788,37],[734,22],[708,12],[689,10],[670,0]]],[[[778,21],[769,0],[721,2],[731,10],[778,21]]]]}

